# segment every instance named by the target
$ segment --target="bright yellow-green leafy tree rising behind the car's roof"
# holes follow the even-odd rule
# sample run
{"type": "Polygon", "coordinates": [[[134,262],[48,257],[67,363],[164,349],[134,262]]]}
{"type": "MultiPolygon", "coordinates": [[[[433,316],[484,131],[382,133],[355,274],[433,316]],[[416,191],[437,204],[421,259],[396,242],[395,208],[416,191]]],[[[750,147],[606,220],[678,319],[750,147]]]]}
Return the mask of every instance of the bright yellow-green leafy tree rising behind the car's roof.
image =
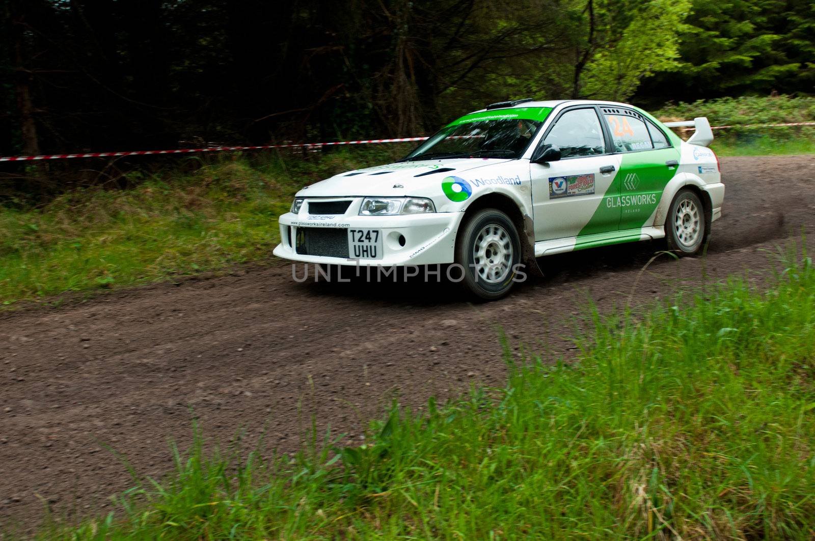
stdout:
{"type": "MultiPolygon", "coordinates": [[[[676,30],[689,7],[690,0],[518,2],[498,20],[476,11],[470,22],[484,46],[511,40],[512,54],[477,56],[478,84],[445,89],[441,105],[465,111],[518,97],[628,99],[643,77],[678,65],[676,30]]],[[[465,61],[472,52],[446,54],[465,61]]]]}

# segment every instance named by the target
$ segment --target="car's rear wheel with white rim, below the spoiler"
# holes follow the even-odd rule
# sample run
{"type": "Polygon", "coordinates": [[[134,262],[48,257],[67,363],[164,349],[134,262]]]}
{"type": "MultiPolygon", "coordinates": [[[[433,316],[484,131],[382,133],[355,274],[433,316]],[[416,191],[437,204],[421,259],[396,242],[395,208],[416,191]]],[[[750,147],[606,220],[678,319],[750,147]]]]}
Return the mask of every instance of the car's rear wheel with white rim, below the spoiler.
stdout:
{"type": "Polygon", "coordinates": [[[702,251],[709,229],[702,200],[692,190],[680,190],[665,219],[667,249],[680,256],[694,256],[702,251]]]}

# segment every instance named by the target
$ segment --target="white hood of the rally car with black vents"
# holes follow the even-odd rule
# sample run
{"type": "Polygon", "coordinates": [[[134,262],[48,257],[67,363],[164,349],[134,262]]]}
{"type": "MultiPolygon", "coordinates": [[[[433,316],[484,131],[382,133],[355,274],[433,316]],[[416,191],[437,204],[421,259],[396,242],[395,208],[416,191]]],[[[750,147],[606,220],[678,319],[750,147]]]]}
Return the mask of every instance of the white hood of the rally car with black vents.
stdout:
{"type": "MultiPolygon", "coordinates": [[[[298,197],[347,196],[428,196],[428,187],[438,187],[443,178],[490,165],[505,158],[463,158],[457,160],[401,161],[355,169],[311,184],[297,192],[298,197]]],[[[435,190],[434,190],[435,191],[435,190]]]]}

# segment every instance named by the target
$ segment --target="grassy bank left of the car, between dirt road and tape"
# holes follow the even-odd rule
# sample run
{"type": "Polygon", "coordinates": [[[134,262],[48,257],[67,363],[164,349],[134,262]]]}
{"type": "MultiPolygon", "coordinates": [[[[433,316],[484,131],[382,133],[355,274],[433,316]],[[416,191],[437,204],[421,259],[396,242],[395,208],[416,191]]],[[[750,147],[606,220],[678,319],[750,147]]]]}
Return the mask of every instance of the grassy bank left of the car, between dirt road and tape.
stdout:
{"type": "Polygon", "coordinates": [[[71,191],[40,208],[0,206],[0,308],[264,260],[297,189],[392,161],[392,152],[272,156],[259,165],[226,156],[193,174],[134,173],[127,190],[71,191]]]}

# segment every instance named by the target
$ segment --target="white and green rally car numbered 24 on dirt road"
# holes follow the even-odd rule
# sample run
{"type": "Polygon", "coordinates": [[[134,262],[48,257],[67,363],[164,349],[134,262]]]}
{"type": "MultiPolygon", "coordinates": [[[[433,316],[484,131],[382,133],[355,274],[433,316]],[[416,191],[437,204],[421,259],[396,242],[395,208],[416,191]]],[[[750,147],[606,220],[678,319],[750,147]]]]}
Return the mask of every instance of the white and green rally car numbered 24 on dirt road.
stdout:
{"type": "Polygon", "coordinates": [[[664,238],[693,255],[725,196],[712,140],[707,118],[666,125],[624,103],[493,103],[401,161],[298,191],[274,253],[328,265],[452,263],[485,299],[553,253],[664,238]],[[695,131],[685,142],[669,125],[695,131]]]}

